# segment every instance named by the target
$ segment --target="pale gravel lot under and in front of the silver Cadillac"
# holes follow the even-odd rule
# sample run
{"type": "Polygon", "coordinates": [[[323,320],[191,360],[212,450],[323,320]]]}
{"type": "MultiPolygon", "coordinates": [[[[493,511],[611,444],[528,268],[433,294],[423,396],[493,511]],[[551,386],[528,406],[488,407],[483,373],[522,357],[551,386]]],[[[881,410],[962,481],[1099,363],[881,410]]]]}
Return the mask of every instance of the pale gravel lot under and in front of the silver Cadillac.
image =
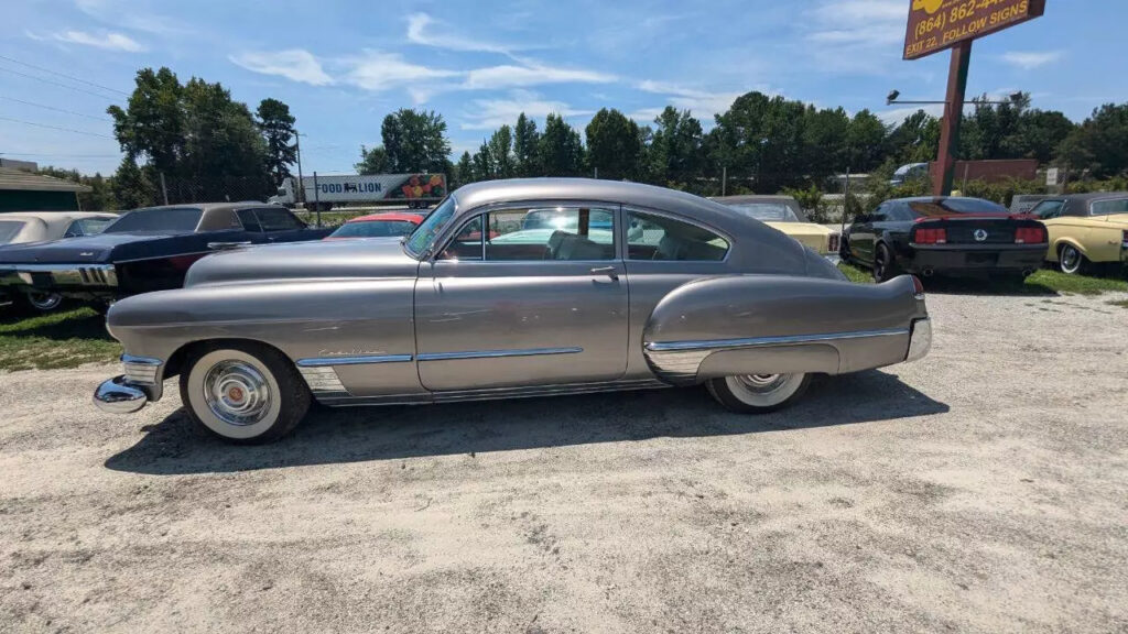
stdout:
{"type": "MultiPolygon", "coordinates": [[[[0,375],[0,631],[1125,632],[1128,310],[934,294],[932,355],[317,412],[231,448],[0,375]]],[[[173,384],[169,384],[171,388],[173,384]]]]}

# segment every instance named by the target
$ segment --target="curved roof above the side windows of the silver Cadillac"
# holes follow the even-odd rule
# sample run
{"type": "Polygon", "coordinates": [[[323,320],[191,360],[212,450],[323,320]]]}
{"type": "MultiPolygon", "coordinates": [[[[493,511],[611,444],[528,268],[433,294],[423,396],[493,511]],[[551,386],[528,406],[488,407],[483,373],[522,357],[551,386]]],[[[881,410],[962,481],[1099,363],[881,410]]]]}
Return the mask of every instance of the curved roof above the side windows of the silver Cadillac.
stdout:
{"type": "MultiPolygon", "coordinates": [[[[592,201],[672,211],[728,229],[740,218],[721,203],[664,187],[594,178],[510,178],[464,185],[451,193],[462,217],[486,204],[519,201],[592,201]]],[[[729,229],[731,230],[731,229],[729,229]]]]}

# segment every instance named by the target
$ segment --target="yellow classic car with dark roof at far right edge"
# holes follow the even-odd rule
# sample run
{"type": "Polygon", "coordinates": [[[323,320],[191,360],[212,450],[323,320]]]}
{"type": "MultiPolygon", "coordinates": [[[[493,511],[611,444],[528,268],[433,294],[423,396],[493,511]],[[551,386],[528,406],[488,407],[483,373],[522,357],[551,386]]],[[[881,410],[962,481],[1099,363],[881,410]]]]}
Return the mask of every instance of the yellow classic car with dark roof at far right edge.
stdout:
{"type": "Polygon", "coordinates": [[[1031,213],[1049,230],[1046,259],[1063,273],[1128,263],[1128,192],[1048,197],[1031,213]]]}

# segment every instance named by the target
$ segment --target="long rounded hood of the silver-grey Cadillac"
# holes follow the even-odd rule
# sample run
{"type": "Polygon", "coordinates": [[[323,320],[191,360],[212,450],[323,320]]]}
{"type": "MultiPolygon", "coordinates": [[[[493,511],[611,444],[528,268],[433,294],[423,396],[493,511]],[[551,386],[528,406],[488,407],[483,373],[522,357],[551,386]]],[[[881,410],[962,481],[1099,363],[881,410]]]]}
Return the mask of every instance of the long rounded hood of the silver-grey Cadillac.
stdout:
{"type": "Polygon", "coordinates": [[[399,238],[318,240],[209,255],[192,265],[184,287],[277,280],[414,278],[418,262],[399,238]]]}

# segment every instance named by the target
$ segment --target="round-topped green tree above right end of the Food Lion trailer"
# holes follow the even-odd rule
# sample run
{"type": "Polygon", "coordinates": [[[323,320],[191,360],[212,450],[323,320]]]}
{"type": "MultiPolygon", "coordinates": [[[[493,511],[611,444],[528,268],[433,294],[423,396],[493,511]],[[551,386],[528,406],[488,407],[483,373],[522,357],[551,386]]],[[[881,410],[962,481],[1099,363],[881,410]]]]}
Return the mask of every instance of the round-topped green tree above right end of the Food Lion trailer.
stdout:
{"type": "Polygon", "coordinates": [[[400,108],[384,117],[380,134],[389,171],[450,171],[447,122],[434,111],[400,108]]]}

